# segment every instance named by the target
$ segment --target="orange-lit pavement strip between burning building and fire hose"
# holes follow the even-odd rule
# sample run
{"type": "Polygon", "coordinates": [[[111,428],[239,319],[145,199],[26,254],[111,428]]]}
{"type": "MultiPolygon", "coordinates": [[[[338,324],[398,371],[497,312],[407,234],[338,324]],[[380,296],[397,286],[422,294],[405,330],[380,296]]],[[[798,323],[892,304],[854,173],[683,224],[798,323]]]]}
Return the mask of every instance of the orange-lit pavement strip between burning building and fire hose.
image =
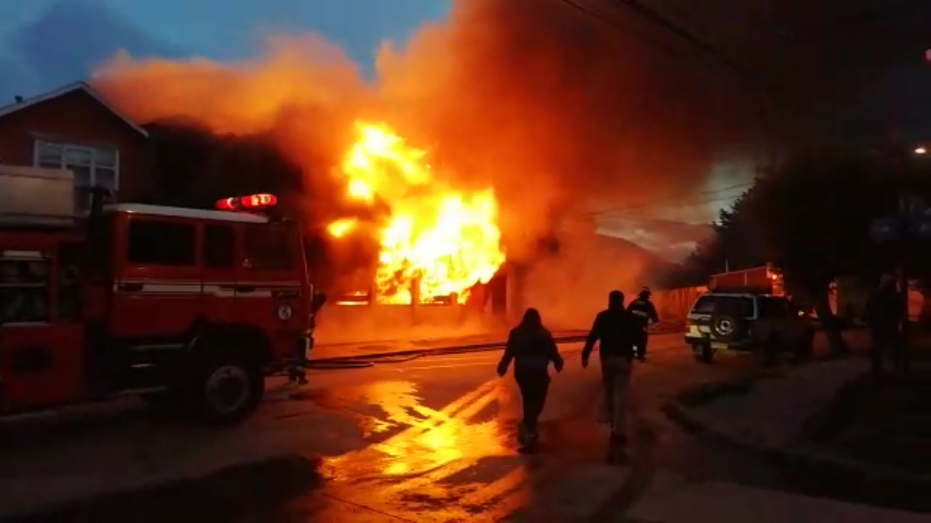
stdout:
{"type": "MultiPolygon", "coordinates": [[[[650,329],[654,334],[679,332],[681,322],[662,322],[650,329]]],[[[584,342],[587,330],[554,331],[556,342],[584,342]]],[[[385,340],[364,343],[320,344],[310,353],[311,362],[339,362],[367,357],[420,355],[424,352],[469,351],[499,349],[507,342],[507,331],[484,332],[450,338],[427,338],[420,340],[385,340]]]]}

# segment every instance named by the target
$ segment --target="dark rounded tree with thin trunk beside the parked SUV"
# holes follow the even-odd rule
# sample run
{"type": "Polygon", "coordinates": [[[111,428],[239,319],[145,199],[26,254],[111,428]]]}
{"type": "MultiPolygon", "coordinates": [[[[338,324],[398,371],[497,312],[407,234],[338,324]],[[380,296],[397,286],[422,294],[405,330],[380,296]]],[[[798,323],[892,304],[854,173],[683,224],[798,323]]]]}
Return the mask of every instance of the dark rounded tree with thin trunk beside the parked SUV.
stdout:
{"type": "Polygon", "coordinates": [[[876,154],[813,150],[757,182],[749,214],[793,293],[810,299],[832,350],[846,345],[830,310],[830,284],[861,275],[881,253],[871,222],[894,208],[901,178],[876,154]]]}

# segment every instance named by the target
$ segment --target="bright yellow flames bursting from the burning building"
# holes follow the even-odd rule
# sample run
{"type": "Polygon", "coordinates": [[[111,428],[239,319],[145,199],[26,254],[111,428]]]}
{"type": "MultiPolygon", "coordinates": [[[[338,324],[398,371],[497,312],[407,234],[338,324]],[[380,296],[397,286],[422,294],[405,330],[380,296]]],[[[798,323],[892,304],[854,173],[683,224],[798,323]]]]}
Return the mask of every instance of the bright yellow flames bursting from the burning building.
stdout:
{"type": "MultiPolygon", "coordinates": [[[[358,141],[341,169],[346,195],[390,208],[378,231],[378,302],[411,303],[415,287],[419,302],[452,294],[465,302],[469,289],[488,283],[505,262],[494,191],[455,190],[435,175],[425,151],[390,127],[357,122],[356,128],[358,141]]],[[[343,236],[357,223],[334,221],[330,233],[343,236]]]]}

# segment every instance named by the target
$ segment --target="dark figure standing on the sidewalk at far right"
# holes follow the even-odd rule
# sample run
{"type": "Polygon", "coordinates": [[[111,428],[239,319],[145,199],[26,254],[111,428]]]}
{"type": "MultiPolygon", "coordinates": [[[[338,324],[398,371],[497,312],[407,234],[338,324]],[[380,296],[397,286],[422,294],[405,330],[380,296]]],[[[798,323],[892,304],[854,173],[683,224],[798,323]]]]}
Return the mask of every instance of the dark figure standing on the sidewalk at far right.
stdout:
{"type": "Polygon", "coordinates": [[[896,288],[896,278],[884,274],[879,288],[867,302],[867,325],[870,328],[870,360],[873,377],[883,374],[886,358],[892,360],[894,369],[903,365],[902,323],[907,321],[902,296],[896,288]]]}

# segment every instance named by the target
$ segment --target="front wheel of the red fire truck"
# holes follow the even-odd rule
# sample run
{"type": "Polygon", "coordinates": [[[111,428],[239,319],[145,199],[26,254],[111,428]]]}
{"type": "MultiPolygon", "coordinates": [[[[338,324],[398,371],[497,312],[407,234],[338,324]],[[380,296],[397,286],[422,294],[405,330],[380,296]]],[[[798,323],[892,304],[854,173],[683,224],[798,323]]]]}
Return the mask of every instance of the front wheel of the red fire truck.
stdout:
{"type": "Polygon", "coordinates": [[[262,401],[262,370],[248,359],[209,358],[198,374],[197,405],[207,422],[241,422],[262,401]]]}

